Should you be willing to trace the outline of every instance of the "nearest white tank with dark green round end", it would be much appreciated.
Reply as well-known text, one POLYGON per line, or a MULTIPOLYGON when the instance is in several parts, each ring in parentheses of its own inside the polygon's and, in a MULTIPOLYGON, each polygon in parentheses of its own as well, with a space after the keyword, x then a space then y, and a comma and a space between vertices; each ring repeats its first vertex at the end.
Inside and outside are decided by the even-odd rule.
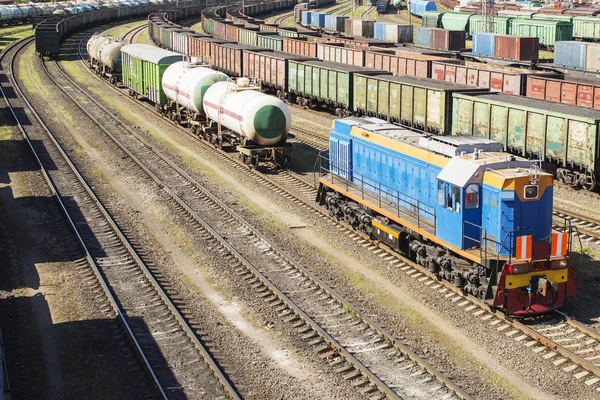
POLYGON ((214 122, 261 146, 284 141, 292 123, 290 110, 247 78, 218 82, 204 95, 204 112, 214 122))

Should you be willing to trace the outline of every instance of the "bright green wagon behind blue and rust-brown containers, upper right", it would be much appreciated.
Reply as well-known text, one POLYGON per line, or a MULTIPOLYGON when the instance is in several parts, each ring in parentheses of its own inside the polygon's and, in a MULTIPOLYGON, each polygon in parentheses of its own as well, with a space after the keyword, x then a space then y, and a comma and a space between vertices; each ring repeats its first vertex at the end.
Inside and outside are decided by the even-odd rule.
POLYGON ((566 21, 547 21, 515 18, 510 24, 513 36, 538 37, 540 46, 554 47, 562 40, 573 40, 573 24, 566 21))

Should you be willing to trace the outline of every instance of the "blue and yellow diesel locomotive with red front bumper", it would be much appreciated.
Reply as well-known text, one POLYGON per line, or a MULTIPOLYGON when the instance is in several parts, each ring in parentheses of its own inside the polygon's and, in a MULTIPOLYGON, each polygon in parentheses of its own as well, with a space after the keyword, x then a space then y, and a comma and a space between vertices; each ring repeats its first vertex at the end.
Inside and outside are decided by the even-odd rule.
POLYGON ((332 215, 493 307, 533 315, 575 295, 552 176, 498 142, 351 117, 334 121, 318 168, 332 215))

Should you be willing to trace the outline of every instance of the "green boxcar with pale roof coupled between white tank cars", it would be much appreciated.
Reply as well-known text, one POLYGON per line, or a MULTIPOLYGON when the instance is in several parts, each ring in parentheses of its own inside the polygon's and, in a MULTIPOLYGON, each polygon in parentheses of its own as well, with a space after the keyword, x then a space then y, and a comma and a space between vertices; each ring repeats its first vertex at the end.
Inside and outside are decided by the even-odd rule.
POLYGON ((128 44, 121 48, 123 84, 136 94, 157 105, 167 97, 162 89, 162 76, 169 65, 182 61, 179 53, 147 44, 128 44))

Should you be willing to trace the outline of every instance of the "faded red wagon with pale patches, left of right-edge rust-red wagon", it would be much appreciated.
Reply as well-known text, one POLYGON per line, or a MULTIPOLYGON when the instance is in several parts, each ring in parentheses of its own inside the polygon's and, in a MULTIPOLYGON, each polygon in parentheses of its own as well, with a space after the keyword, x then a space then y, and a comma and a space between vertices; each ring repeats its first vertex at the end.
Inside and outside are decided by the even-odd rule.
POLYGON ((528 76, 560 77, 561 75, 476 62, 461 65, 433 61, 431 65, 433 79, 514 95, 525 95, 528 76))

